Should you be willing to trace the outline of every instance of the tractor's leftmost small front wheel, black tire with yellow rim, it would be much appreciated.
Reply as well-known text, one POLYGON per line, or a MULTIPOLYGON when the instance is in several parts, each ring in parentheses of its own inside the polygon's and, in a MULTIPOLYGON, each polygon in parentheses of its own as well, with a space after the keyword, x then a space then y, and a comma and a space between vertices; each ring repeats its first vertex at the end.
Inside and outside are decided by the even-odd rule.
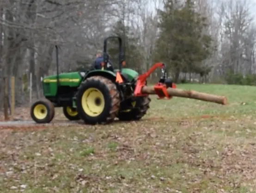
POLYGON ((48 99, 39 100, 30 108, 30 116, 36 123, 49 123, 54 115, 54 105, 48 99))

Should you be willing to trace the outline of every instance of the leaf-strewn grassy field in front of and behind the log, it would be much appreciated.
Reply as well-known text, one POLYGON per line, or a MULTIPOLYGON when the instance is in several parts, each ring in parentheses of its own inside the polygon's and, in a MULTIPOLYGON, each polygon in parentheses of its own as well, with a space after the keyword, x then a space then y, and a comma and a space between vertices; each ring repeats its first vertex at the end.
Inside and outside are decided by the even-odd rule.
POLYGON ((229 105, 152 97, 143 121, 1 130, 0 192, 256 193, 256 87, 178 88, 229 105))

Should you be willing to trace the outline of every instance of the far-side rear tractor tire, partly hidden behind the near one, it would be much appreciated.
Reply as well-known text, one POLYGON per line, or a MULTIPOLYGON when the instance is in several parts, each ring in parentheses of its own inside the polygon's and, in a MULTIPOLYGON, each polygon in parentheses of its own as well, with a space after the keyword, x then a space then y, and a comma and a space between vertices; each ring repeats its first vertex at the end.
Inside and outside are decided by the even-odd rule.
POLYGON ((136 97, 131 109, 120 109, 118 119, 120 121, 138 121, 146 115, 151 99, 149 96, 136 97))

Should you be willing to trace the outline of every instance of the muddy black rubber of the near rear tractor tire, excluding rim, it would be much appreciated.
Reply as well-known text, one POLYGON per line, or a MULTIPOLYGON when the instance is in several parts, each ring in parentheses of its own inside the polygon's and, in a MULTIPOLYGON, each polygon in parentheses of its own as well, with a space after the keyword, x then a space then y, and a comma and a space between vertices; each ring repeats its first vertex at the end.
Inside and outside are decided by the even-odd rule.
POLYGON ((116 84, 110 79, 102 76, 87 78, 78 88, 78 92, 76 94, 76 106, 80 118, 87 124, 106 124, 114 121, 115 117, 118 115, 120 106, 120 96, 119 91, 116 88, 116 84), (100 90, 104 96, 104 109, 102 113, 97 116, 87 115, 82 106, 82 96, 85 91, 90 88, 100 90))

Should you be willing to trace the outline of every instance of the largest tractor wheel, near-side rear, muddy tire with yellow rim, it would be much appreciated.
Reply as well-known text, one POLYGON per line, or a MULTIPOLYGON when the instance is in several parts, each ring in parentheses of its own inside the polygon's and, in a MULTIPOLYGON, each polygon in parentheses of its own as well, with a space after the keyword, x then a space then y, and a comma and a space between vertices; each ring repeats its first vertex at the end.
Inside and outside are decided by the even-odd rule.
POLYGON ((80 118, 86 124, 110 123, 118 115, 119 91, 110 79, 93 76, 79 86, 76 105, 80 118))

